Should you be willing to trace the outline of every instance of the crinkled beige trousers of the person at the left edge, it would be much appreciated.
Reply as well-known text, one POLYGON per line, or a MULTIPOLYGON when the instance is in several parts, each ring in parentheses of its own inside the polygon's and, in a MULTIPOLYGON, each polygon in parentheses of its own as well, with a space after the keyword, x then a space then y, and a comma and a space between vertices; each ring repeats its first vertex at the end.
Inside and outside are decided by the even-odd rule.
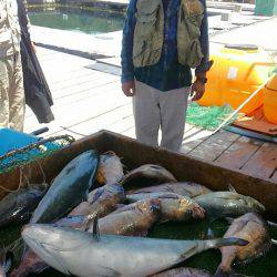
POLYGON ((0 59, 0 126, 23 131, 24 89, 20 54, 0 59))

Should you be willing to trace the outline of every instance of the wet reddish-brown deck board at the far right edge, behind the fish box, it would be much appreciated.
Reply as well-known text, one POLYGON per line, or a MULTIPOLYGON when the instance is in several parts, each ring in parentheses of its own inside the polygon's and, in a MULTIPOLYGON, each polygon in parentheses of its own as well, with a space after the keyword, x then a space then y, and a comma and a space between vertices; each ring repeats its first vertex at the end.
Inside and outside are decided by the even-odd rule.
POLYGON ((270 178, 277 167, 276 144, 264 143, 242 168, 242 172, 260 178, 270 178))

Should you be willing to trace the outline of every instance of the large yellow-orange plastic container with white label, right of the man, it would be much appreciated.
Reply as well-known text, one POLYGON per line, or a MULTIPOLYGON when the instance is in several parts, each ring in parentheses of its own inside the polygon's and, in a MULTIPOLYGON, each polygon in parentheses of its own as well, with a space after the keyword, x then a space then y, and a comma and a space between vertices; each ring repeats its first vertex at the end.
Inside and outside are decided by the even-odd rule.
MULTIPOLYGON (((211 59, 214 65, 207 73, 207 85, 201 105, 232 105, 237 109, 268 78, 273 59, 255 45, 225 45, 211 59)), ((240 112, 250 113, 263 105, 263 91, 240 112)))

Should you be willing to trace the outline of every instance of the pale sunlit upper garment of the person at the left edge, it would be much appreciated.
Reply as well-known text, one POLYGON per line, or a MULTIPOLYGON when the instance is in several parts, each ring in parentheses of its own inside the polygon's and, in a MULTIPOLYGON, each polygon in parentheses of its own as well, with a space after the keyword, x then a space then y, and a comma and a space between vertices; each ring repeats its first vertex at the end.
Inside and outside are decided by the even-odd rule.
POLYGON ((0 58, 20 51, 20 27, 16 0, 0 0, 0 58))

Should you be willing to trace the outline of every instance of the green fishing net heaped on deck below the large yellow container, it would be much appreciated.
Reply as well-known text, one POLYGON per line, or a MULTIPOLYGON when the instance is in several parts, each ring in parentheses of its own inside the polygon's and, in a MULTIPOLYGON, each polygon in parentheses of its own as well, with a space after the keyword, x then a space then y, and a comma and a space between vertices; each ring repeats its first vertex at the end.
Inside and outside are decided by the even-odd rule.
MULTIPOLYGON (((186 112, 186 122, 188 124, 202 127, 205 130, 216 130, 232 113, 234 112, 230 105, 223 106, 201 106, 196 102, 188 104, 186 112)), ((236 116, 228 122, 230 124, 236 120, 236 116)))

